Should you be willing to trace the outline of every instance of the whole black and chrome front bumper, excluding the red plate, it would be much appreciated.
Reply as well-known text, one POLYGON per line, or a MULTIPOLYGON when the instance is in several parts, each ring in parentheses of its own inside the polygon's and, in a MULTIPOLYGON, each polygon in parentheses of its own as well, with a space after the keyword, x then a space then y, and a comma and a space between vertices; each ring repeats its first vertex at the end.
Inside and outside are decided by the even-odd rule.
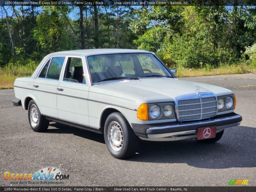
MULTIPOLYGON (((147 138, 168 138, 181 137, 188 135, 197 135, 197 129, 200 127, 217 126, 217 132, 232 126, 237 126, 242 121, 242 117, 236 113, 218 115, 215 118, 193 121, 193 122, 169 122, 157 124, 134 124, 132 128, 134 133, 145 140, 147 138)), ((193 138, 193 137, 192 137, 193 138)), ((156 139, 151 139, 156 140, 156 139)), ((170 140, 170 139, 169 139, 170 140)))

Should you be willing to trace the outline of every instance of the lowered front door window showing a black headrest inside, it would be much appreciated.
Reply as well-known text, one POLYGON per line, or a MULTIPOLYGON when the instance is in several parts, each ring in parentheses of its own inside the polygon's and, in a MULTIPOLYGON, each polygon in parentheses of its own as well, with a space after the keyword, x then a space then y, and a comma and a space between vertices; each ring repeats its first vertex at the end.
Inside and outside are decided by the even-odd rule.
POLYGON ((68 58, 63 81, 86 84, 81 58, 68 58))

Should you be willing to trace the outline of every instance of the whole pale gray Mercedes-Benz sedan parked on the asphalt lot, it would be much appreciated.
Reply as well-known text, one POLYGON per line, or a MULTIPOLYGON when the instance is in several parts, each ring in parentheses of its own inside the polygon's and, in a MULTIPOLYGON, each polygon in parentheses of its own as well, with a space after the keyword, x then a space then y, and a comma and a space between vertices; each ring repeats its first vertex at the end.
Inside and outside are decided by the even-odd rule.
POLYGON ((12 102, 28 110, 34 131, 53 121, 101 133, 119 159, 133 156, 139 139, 213 143, 240 124, 232 91, 178 80, 173 72, 149 51, 61 51, 15 80, 12 102))

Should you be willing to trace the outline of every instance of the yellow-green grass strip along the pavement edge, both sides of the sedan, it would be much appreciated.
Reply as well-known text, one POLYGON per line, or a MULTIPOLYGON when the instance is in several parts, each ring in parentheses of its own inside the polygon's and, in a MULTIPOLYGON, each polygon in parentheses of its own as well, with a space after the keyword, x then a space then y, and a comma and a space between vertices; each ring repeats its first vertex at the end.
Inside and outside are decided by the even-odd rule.
MULTIPOLYGON (((5 67, 0 67, 0 89, 12 89, 13 83, 18 77, 29 77, 37 67, 38 63, 27 61, 25 65, 20 62, 9 63, 5 67)), ((227 75, 255 73, 256 64, 247 65, 239 63, 237 65, 224 65, 218 68, 206 67, 205 69, 178 69, 177 77, 195 77, 207 75, 227 75)))

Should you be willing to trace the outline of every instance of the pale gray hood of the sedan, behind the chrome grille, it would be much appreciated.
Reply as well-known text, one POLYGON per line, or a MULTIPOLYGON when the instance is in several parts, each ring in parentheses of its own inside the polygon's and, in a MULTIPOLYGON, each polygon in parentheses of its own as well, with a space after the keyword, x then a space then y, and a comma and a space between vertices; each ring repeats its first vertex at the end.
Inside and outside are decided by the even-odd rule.
MULTIPOLYGON (((205 83, 183 81, 174 78, 145 78, 97 84, 101 94, 115 94, 131 99, 134 95, 147 99, 149 102, 174 101, 175 97, 197 93, 214 93, 217 96, 232 94, 232 91, 205 83)), ((98 89, 99 90, 99 89, 98 89)))

